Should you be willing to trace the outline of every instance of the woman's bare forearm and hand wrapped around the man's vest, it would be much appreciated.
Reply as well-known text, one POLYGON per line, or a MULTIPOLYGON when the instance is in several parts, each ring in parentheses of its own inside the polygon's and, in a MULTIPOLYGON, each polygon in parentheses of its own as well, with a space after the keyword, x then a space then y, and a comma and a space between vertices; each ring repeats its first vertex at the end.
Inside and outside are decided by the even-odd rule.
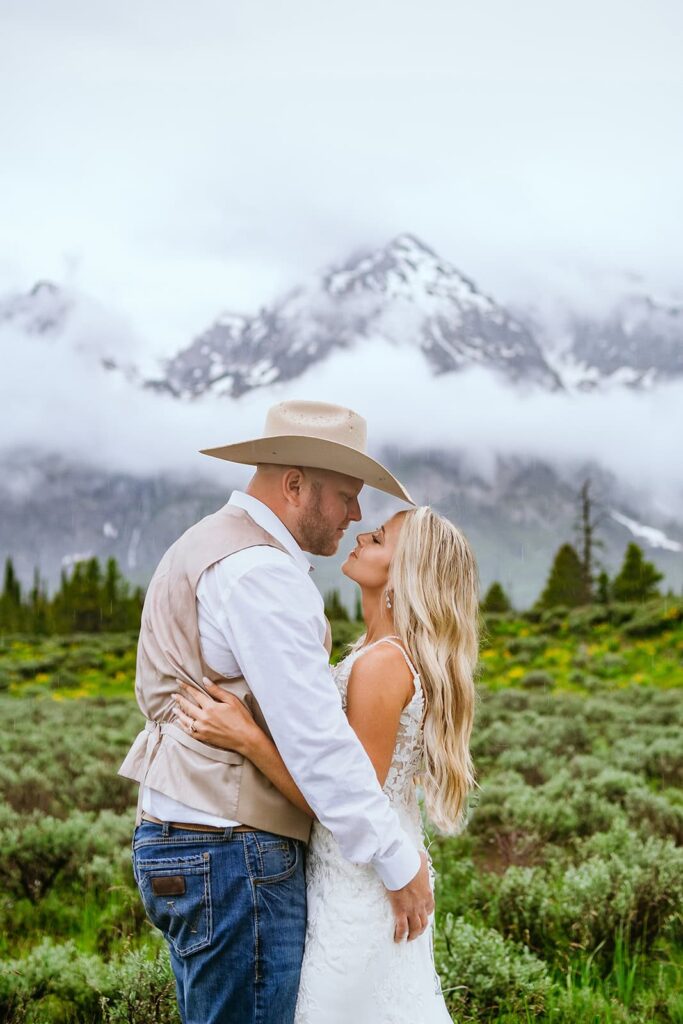
POLYGON ((174 697, 176 722, 182 731, 203 743, 244 755, 290 803, 314 818, 315 814, 292 778, 278 748, 257 725, 242 700, 209 679, 204 679, 204 685, 211 696, 178 680, 181 692, 175 693, 174 697))

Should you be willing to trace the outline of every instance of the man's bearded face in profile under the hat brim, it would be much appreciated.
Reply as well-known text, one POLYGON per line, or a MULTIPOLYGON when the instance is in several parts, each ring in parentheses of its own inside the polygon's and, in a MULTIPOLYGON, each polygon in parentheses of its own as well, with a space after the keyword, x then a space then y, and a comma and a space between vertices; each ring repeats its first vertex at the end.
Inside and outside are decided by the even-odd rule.
POLYGON ((305 504, 297 523, 297 539, 311 555, 334 555, 349 523, 360 519, 362 480, 330 470, 304 472, 305 504))

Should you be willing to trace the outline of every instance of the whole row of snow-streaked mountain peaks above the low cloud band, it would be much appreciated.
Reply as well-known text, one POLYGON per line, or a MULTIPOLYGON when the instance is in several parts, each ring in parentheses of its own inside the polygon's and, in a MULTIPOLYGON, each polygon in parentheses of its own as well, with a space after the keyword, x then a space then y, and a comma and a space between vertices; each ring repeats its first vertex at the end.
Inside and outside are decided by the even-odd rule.
POLYGON ((63 337, 89 361, 181 398, 294 381, 340 350, 362 360, 378 340, 415 351, 434 375, 480 367, 513 387, 643 389, 683 376, 683 304, 631 294, 603 317, 569 312, 558 332, 506 308, 408 233, 324 269, 254 315, 218 316, 153 380, 132 364, 122 317, 51 282, 0 298, 4 328, 37 341, 63 337))

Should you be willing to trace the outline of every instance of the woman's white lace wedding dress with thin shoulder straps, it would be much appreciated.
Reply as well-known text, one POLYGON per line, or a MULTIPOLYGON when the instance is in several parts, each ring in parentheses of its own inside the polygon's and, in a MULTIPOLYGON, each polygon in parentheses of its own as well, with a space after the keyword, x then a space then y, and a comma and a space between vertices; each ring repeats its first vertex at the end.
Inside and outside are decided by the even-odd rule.
MULTIPOLYGON (((415 695, 400 716, 384 792, 405 831, 424 849, 413 781, 422 762, 424 697, 409 663, 415 695)), ((334 670, 346 710, 357 648, 334 670)), ((308 922, 295 1024, 451 1024, 434 968, 432 927, 412 942, 394 942, 386 890, 373 867, 346 860, 332 833, 314 822, 306 858, 308 922)))

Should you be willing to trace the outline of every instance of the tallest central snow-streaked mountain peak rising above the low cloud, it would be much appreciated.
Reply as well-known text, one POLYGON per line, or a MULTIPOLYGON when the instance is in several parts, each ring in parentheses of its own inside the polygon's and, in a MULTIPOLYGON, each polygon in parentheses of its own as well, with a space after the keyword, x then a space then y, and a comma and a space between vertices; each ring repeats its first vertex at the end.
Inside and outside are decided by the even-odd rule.
POLYGON ((151 386, 238 397, 293 380, 337 349, 413 346, 435 374, 486 367, 511 383, 561 387, 530 331, 411 234, 325 270, 255 316, 229 315, 170 359, 151 386))

